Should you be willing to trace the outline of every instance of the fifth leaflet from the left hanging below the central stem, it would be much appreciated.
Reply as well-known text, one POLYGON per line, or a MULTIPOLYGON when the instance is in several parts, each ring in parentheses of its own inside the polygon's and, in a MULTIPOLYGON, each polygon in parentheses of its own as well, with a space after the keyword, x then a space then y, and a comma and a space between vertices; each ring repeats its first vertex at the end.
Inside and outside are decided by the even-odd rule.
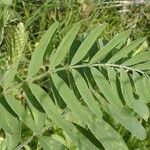
POLYGON ((95 82, 97 83, 97 86, 100 89, 100 92, 105 96, 106 100, 115 108, 121 109, 121 103, 118 103, 118 99, 114 95, 114 91, 112 90, 109 82, 104 77, 104 75, 96 68, 91 68, 91 72, 95 79, 95 82))

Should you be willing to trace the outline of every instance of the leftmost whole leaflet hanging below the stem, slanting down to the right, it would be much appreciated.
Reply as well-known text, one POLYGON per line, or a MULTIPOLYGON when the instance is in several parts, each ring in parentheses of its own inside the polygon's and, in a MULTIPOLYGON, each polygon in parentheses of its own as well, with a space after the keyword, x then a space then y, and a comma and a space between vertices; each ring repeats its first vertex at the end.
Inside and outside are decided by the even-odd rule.
POLYGON ((38 129, 36 128, 36 124, 33 121, 32 117, 26 112, 24 107, 17 102, 15 98, 12 96, 5 94, 5 99, 9 106, 13 109, 13 111, 17 114, 19 119, 27 126, 29 127, 33 132, 38 133, 38 129))

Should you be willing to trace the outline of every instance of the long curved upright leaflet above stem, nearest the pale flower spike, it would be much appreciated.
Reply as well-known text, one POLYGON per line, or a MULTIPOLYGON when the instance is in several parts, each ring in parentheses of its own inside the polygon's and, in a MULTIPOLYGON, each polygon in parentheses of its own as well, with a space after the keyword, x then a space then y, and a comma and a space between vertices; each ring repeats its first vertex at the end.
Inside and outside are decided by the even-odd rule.
POLYGON ((36 47, 36 49, 34 50, 32 54, 32 58, 29 64, 28 77, 34 76, 41 68, 43 64, 43 57, 46 52, 46 49, 48 45, 50 44, 51 39, 56 29, 58 28, 58 26, 59 26, 58 22, 53 23, 50 26, 50 28, 46 31, 46 33, 43 35, 43 37, 41 38, 38 46, 36 47))

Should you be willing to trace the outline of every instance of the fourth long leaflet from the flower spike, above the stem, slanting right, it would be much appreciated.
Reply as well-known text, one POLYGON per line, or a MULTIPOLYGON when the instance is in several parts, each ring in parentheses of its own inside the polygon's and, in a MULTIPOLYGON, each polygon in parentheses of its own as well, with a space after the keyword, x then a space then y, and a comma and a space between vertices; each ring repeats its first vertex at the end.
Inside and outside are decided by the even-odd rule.
POLYGON ((124 31, 119 34, 117 34, 112 40, 110 40, 100 51, 98 51, 94 57, 91 59, 90 64, 93 64, 97 61, 101 61, 105 58, 105 56, 113 50, 115 47, 117 47, 119 44, 125 43, 127 38, 129 37, 131 31, 124 31))

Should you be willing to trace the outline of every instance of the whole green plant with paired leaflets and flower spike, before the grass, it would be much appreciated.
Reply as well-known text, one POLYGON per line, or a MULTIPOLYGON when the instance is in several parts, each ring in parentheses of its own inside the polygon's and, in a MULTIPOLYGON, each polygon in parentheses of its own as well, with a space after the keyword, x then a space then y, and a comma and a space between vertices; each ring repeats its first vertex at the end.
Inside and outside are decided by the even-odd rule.
POLYGON ((37 149, 127 150, 122 126, 131 138, 146 138, 142 123, 149 118, 150 52, 140 50, 146 38, 127 42, 127 30, 106 42, 100 38, 102 24, 82 39, 77 36, 81 25, 76 23, 52 49, 59 23, 52 24, 23 77, 17 71, 24 48, 18 34, 25 33, 17 30, 14 44, 20 48, 1 78, 1 149, 29 149, 35 138, 37 149), (24 100, 17 100, 20 92, 24 100), (24 126, 32 134, 27 139, 24 126))

